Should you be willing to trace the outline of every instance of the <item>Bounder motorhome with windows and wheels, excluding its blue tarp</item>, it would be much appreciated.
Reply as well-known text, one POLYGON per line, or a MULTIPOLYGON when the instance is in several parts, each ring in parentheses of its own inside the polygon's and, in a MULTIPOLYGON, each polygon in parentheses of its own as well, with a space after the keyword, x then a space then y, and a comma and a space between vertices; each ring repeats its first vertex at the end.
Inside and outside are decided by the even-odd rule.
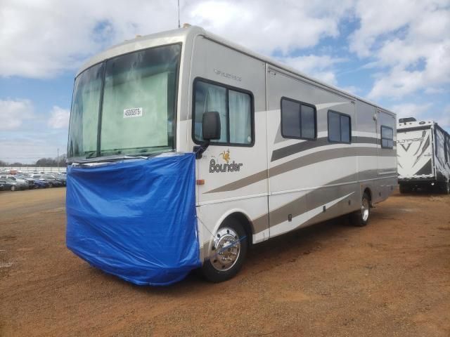
POLYGON ((395 125, 383 107, 185 27, 79 70, 68 161, 198 152, 200 259, 219 282, 252 244, 347 213, 366 225, 397 185, 395 125))

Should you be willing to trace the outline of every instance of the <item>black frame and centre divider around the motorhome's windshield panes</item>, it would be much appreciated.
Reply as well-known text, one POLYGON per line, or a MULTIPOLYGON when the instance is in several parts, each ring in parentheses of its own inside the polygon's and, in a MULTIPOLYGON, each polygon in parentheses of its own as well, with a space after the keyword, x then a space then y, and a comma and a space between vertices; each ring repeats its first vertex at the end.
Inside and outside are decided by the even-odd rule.
MULTIPOLYGON (((105 157, 115 157, 115 156, 108 156, 108 155, 101 155, 101 120, 102 120, 102 116, 103 116, 103 94, 104 94, 104 88, 105 88, 105 72, 106 72, 106 62, 108 62, 108 60, 114 60, 115 58, 120 58, 124 55, 129 55, 132 53, 136 53, 136 52, 141 52, 141 51, 148 51, 151 49, 155 49, 155 48, 162 48, 162 47, 166 47, 166 46, 176 46, 179 45, 180 46, 180 52, 178 55, 178 60, 177 60, 177 65, 176 65, 176 74, 175 74, 175 90, 174 90, 174 116, 173 116, 173 121, 172 121, 172 134, 173 134, 173 145, 172 145, 172 149, 170 150, 161 150, 161 151, 153 151, 153 152, 149 152, 148 154, 141 154, 141 153, 136 153, 136 154, 124 154, 123 157, 153 157, 156 154, 160 154, 160 153, 164 153, 164 152, 176 152, 176 142, 177 142, 177 138, 176 138, 176 128, 178 126, 178 98, 179 98, 179 83, 180 83, 180 70, 181 70, 181 60, 182 60, 182 55, 184 53, 184 48, 183 48, 183 43, 180 42, 174 42, 172 44, 160 44, 158 46, 151 46, 148 48, 141 48, 141 49, 136 49, 134 51, 129 51, 128 53, 121 53, 119 55, 114 55, 110 58, 105 58, 103 60, 101 60, 100 62, 96 62, 93 65, 90 65, 89 67, 87 67, 86 69, 84 69, 82 72, 79 72, 77 74, 77 76, 74 79, 74 85, 73 85, 73 89, 72 89, 72 100, 70 103, 70 117, 69 117, 69 128, 68 128, 68 148, 67 148, 67 154, 69 154, 69 142, 70 142, 70 128, 72 127, 72 107, 74 104, 74 95, 75 95, 75 84, 77 79, 84 74, 84 72, 86 72, 87 70, 90 70, 92 67, 96 67, 98 65, 103 64, 103 70, 102 70, 102 77, 101 77, 101 92, 100 92, 100 103, 98 104, 98 124, 97 124, 97 143, 96 143, 96 154, 94 157, 86 157, 86 156, 73 156, 73 157, 68 157, 66 159, 66 162, 68 164, 72 164, 74 162, 82 162, 82 161, 96 161, 95 159, 101 159, 101 161, 105 161, 103 158, 105 157)), ((120 155, 120 157, 122 157, 122 155, 120 155)), ((112 158, 110 160, 113 160, 112 158)), ((106 161, 108 161, 108 159, 106 159, 106 161)))

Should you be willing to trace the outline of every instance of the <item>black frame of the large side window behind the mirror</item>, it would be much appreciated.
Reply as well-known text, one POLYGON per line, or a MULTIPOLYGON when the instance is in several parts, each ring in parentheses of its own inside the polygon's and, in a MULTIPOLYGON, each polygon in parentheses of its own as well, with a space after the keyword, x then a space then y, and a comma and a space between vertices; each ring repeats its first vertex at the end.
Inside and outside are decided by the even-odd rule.
POLYGON ((230 139, 230 107, 229 107, 229 91, 236 91, 238 93, 246 93, 250 95, 250 126, 252 128, 251 135, 252 135, 252 142, 249 144, 242 144, 242 143, 230 143, 230 142, 216 142, 211 140, 210 146, 233 146, 233 147, 253 147, 255 145, 255 96, 253 95, 252 91, 238 88, 237 86, 230 86, 228 84, 224 84, 218 81, 212 81, 211 79, 205 79, 204 77, 195 77, 193 80, 192 85, 192 107, 191 107, 191 113, 192 113, 192 128, 191 128, 191 138, 193 142, 197 145, 202 145, 203 140, 198 140, 195 138, 195 85, 198 81, 204 82, 206 84, 212 84, 214 86, 221 86, 222 88, 226 89, 226 118, 227 118, 227 124, 228 128, 226 130, 227 138, 230 139))

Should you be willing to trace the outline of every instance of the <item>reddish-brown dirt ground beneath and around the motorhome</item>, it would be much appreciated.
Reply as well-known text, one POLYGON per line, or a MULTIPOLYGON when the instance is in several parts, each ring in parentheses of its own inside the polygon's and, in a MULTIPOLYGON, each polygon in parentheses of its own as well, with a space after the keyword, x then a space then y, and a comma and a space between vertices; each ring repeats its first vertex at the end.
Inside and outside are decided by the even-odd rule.
POLYGON ((65 189, 0 193, 0 336, 450 336, 450 196, 265 242, 229 282, 165 288, 65 247, 65 189))

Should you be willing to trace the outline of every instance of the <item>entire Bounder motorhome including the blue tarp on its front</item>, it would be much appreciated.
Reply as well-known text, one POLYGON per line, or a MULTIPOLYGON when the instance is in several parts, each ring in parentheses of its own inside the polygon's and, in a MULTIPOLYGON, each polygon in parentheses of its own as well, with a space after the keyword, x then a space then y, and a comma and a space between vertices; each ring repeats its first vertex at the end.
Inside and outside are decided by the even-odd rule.
POLYGON ((68 247, 136 284, 197 267, 221 282, 253 244, 345 214, 364 226, 397 185, 395 118, 201 27, 125 41, 75 78, 68 247))

